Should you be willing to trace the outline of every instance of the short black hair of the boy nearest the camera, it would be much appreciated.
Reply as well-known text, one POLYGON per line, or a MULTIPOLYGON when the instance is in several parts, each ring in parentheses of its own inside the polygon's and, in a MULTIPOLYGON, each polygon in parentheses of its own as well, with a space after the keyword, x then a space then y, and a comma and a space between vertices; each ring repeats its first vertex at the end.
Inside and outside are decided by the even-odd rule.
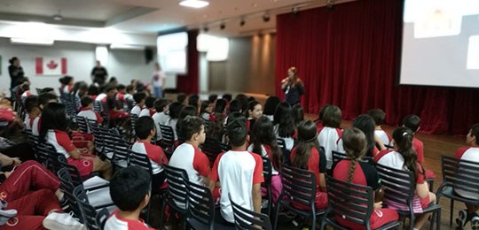
POLYGON ((151 175, 140 166, 130 166, 114 173, 110 196, 122 211, 135 211, 151 190, 151 175))

